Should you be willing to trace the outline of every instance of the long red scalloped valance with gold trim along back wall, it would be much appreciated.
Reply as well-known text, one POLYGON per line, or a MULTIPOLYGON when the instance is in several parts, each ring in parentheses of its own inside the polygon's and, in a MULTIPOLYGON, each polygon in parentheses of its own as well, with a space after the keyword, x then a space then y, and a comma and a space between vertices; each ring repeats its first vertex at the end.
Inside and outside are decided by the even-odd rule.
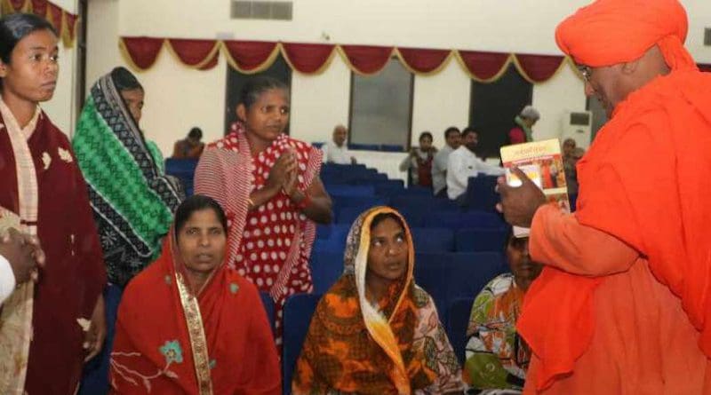
MULTIPOLYGON (((2 1, 2 0, 0 0, 2 1)), ((6 0, 17 3, 19 0, 6 0)), ((30 1, 30 0, 28 0, 30 1)), ((33 2, 40 0, 31 0, 33 2)), ((52 14, 52 5, 49 6, 52 14)), ((303 74, 320 74, 339 53, 348 67, 360 75, 373 75, 396 56, 415 75, 432 75, 447 65, 451 58, 459 61, 467 75, 475 81, 491 83, 498 80, 512 63, 530 83, 544 83, 570 59, 558 55, 533 55, 486 51, 434 50, 397 48, 377 45, 276 43, 263 41, 220 41, 156 37, 121 37, 120 47, 132 67, 146 70, 153 66, 163 49, 183 65, 200 70, 215 67, 220 52, 231 67, 242 73, 259 73, 270 67, 281 53, 292 69, 303 74)), ((699 65, 711 71, 711 65, 699 65)))

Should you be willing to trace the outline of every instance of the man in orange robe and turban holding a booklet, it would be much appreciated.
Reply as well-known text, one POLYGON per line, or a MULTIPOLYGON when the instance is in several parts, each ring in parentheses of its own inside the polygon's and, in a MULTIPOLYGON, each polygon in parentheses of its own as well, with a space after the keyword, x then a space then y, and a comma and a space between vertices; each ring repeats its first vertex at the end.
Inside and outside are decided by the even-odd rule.
POLYGON ((574 215, 499 180, 547 265, 518 324, 524 393, 711 393, 711 74, 687 28, 677 0, 598 0, 556 30, 611 120, 578 164, 574 215))

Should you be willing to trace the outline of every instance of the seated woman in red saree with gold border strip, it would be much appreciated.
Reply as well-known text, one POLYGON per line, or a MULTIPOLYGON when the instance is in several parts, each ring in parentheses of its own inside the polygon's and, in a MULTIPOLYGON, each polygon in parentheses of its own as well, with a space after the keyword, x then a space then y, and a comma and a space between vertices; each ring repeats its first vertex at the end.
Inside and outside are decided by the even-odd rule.
POLYGON ((226 245, 216 201, 180 204, 163 254, 124 291, 111 393, 280 393, 267 313, 252 283, 225 265, 226 245))

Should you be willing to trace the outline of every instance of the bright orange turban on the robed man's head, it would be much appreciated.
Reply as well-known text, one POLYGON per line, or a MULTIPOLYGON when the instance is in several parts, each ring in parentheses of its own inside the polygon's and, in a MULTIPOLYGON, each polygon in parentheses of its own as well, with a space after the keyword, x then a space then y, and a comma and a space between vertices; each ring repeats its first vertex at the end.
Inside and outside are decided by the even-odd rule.
POLYGON ((555 41, 576 63, 589 67, 639 59, 659 45, 667 65, 677 68, 693 64, 683 49, 688 28, 677 0, 597 0, 563 20, 555 41))

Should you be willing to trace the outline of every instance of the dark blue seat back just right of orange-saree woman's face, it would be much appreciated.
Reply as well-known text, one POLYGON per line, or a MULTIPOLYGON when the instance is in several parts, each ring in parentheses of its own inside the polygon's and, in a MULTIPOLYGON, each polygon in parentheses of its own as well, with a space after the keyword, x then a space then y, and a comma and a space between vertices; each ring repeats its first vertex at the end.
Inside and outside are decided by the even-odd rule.
POLYGON ((447 322, 451 301, 476 296, 505 269, 503 257, 496 252, 419 254, 418 258, 415 281, 435 300, 442 322, 447 322))

